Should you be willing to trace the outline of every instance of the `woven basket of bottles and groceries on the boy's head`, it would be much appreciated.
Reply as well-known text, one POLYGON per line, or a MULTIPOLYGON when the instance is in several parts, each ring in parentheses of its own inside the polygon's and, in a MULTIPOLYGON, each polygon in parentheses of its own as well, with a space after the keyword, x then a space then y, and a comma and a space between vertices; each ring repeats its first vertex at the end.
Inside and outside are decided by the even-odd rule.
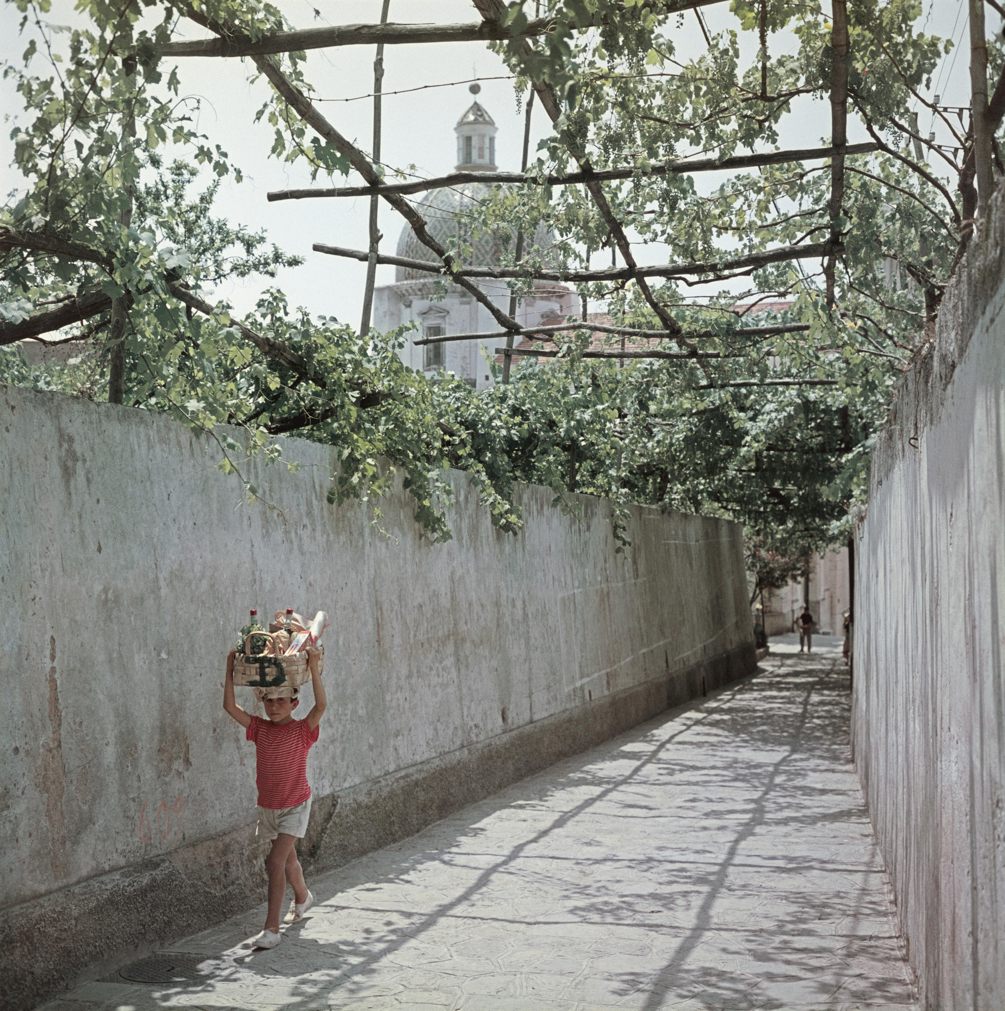
POLYGON ((247 625, 240 630, 237 655, 234 657, 233 682, 254 688, 300 687, 310 680, 308 650, 317 650, 318 673, 324 666, 324 647, 318 645, 327 627, 326 616, 319 611, 305 622, 292 608, 277 611, 266 628, 253 611, 247 625))

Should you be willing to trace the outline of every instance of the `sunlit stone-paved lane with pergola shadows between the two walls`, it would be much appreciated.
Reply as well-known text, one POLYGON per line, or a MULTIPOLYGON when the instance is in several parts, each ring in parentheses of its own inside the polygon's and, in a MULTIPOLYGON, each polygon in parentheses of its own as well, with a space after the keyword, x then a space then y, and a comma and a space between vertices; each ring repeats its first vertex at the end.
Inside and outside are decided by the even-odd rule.
POLYGON ((243 943, 262 907, 175 945, 178 982, 117 974, 46 1011, 913 1007, 839 640, 786 639, 758 676, 315 879, 278 948, 243 943))

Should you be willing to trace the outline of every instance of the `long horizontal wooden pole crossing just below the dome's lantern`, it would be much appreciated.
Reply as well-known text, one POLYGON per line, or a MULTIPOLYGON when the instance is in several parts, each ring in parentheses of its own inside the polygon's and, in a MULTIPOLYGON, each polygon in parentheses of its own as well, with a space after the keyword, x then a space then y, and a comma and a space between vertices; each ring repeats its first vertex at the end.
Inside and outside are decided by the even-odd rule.
MULTIPOLYGON (((849 144, 840 151, 844 155, 871 155, 879 150, 879 145, 870 141, 868 144, 849 144)), ((645 178, 647 176, 690 175, 692 172, 724 172, 732 169, 753 169, 764 165, 787 165, 790 162, 808 162, 820 158, 833 158, 839 154, 837 148, 801 148, 796 151, 769 151, 758 155, 737 155, 735 158, 724 158, 717 161, 714 158, 695 158, 691 161, 657 162, 647 169, 632 165, 621 169, 600 169, 592 175, 584 172, 571 172, 566 176, 545 176, 538 179, 535 176, 525 176, 519 172, 451 172, 446 176, 434 179, 419 179, 410 183, 385 183, 381 186, 339 186, 328 189, 291 189, 274 190, 267 194, 270 201, 304 200, 311 197, 356 197, 373 196, 375 193, 397 193, 408 196, 412 193, 422 193, 430 189, 441 189, 444 186, 462 186, 465 183, 505 183, 515 186, 571 186, 585 183, 588 179, 606 182, 614 179, 645 178)))

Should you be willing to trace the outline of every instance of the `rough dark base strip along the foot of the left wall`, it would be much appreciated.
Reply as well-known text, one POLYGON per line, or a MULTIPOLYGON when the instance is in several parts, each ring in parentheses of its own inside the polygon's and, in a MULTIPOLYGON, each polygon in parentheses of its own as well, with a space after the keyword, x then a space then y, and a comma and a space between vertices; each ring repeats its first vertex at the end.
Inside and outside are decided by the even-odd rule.
MULTIPOLYGON (((314 872, 341 866, 756 669, 753 646, 745 644, 491 740, 316 797, 301 856, 314 872)), ((0 1009, 23 1011, 261 903, 267 848, 255 841, 249 824, 7 910, 0 920, 8 967, 0 1009)))

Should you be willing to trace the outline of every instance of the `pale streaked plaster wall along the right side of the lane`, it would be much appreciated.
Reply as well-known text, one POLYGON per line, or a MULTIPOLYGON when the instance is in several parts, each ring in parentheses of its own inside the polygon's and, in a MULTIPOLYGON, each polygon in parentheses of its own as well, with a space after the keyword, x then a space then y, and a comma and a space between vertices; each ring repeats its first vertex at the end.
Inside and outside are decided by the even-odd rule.
POLYGON ((852 743, 926 1009, 1005 1005, 1005 207, 876 447, 852 743))

